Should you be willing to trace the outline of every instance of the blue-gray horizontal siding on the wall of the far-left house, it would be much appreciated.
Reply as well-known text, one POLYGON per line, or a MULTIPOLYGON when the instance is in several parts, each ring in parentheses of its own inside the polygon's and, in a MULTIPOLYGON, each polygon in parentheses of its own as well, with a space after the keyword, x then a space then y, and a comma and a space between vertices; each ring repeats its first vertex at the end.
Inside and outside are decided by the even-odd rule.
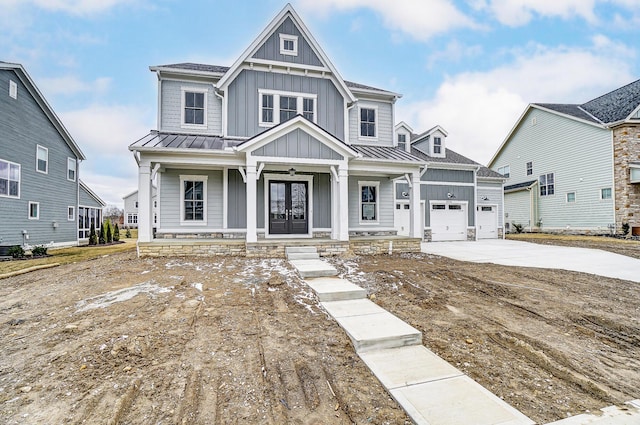
POLYGON ((20 198, 0 197, 0 244, 22 245, 23 230, 30 245, 77 243, 79 167, 76 180, 67 180, 67 158, 77 160, 16 73, 0 71, 0 159, 21 165, 20 198), (9 81, 17 84, 17 99, 9 96, 9 81), (36 171, 37 145, 49 151, 47 174, 36 171), (30 201, 40 203, 38 220, 29 219, 30 201), (69 207, 74 220, 68 220, 69 207))

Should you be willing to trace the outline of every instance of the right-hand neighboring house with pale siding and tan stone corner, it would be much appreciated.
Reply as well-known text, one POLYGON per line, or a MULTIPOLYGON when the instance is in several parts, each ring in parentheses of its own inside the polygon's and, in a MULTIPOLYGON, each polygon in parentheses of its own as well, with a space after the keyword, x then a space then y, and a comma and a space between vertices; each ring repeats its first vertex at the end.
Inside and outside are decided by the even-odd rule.
POLYGON ((530 104, 489 167, 505 221, 528 231, 640 235, 640 80, 576 104, 530 104))

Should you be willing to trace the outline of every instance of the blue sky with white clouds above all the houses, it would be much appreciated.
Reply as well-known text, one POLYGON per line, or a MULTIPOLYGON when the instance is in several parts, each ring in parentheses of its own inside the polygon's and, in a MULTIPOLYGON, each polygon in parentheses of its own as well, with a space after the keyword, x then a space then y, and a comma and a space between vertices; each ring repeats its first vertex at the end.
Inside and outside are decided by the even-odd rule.
MULTIPOLYGON (((403 95, 487 164, 529 103, 584 103, 640 78, 640 0, 293 0, 344 79, 403 95)), ((275 0, 0 0, 0 60, 22 64, 107 204, 137 189, 128 146, 157 128, 149 66, 231 66, 275 0)))

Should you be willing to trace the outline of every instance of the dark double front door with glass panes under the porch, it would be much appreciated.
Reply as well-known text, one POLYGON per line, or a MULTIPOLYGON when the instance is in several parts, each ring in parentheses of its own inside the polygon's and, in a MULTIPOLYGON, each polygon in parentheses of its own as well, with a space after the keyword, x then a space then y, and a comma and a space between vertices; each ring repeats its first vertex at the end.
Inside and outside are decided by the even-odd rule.
POLYGON ((269 182, 269 234, 309 233, 307 183, 269 182))

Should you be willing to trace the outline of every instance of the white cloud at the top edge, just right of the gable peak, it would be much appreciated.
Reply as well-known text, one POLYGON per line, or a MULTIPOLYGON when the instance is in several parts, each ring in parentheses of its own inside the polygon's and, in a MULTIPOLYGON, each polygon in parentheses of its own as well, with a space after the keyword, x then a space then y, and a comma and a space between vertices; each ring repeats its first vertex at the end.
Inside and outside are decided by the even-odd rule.
POLYGON ((437 34, 478 25, 449 0, 299 0, 309 14, 326 15, 333 9, 369 8, 377 12, 386 27, 425 41, 437 34))

